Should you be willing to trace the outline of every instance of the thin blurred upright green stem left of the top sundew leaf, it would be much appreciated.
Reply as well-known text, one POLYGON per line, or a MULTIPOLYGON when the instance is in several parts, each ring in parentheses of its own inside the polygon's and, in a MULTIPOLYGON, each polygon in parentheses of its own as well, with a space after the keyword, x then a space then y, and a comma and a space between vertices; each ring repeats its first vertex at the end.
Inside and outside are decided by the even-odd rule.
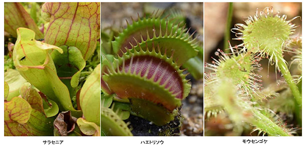
POLYGON ((226 53, 230 52, 230 50, 228 49, 229 48, 228 41, 230 40, 230 27, 231 27, 232 18, 233 18, 233 3, 229 2, 227 24, 224 32, 224 52, 226 53))

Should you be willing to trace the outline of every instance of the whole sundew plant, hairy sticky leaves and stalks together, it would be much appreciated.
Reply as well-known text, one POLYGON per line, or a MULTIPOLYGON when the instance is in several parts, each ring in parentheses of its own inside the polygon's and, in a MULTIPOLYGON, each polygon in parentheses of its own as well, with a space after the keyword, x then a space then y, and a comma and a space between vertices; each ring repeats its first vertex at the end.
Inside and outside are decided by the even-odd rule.
MULTIPOLYGON (((245 20, 246 24, 236 24, 235 28, 231 29, 236 33, 235 39, 242 40, 243 43, 235 47, 229 44, 229 54, 218 49, 214 53, 215 57, 212 57, 213 61, 205 64, 205 68, 210 70, 205 72, 204 106, 207 119, 225 112, 232 122, 232 133, 237 135, 242 135, 243 126, 247 124, 255 127, 251 134, 255 131, 258 131, 258 135, 268 136, 297 134, 297 130, 301 128, 295 127, 292 123, 287 124, 288 120, 283 120, 284 116, 279 115, 285 112, 277 112, 274 107, 270 108, 267 105, 269 99, 289 101, 285 99, 282 86, 279 85, 283 80, 276 78, 277 85, 272 84, 274 87, 270 85, 264 88, 262 75, 257 74, 263 70, 260 64, 262 59, 269 60, 268 66, 276 66, 275 73, 282 73, 288 83, 283 86, 292 92, 292 95, 286 98, 291 99, 294 96, 297 101, 296 108, 290 112, 296 114, 297 123, 300 124, 302 95, 296 81, 301 79, 292 78, 283 54, 285 51, 293 52, 295 55, 290 65, 297 65, 299 73, 302 73, 300 40, 299 37, 297 40, 291 36, 297 27, 291 21, 296 18, 298 17, 286 20, 286 15, 280 16, 279 12, 273 14, 273 8, 266 7, 263 11, 257 10, 255 16, 249 16, 245 20)), ((278 107, 281 107, 281 104, 278 107)))

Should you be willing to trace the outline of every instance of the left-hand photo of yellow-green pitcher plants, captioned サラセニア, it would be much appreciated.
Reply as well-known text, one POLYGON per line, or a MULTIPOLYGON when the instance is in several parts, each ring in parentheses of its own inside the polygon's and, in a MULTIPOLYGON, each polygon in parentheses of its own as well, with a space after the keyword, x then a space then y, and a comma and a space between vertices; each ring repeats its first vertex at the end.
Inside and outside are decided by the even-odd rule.
POLYGON ((4 2, 4 136, 100 136, 100 70, 99 2, 4 2))

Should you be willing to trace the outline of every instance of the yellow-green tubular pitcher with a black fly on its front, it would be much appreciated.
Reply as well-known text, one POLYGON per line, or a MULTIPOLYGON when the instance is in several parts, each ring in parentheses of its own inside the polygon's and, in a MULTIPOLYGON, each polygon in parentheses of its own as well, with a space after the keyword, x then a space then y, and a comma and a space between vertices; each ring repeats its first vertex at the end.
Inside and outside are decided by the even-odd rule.
POLYGON ((56 102, 61 111, 70 110, 80 116, 72 107, 69 91, 59 79, 49 51, 62 49, 34 40, 35 33, 27 28, 17 29, 17 40, 13 50, 13 61, 19 73, 49 99, 56 102))

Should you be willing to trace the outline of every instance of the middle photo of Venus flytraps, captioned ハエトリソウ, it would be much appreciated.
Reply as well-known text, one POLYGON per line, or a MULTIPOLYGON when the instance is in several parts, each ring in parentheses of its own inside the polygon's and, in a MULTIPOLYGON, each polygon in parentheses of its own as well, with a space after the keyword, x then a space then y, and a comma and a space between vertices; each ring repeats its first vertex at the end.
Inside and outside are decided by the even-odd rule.
POLYGON ((101 41, 102 136, 203 136, 202 2, 103 2, 101 41))

